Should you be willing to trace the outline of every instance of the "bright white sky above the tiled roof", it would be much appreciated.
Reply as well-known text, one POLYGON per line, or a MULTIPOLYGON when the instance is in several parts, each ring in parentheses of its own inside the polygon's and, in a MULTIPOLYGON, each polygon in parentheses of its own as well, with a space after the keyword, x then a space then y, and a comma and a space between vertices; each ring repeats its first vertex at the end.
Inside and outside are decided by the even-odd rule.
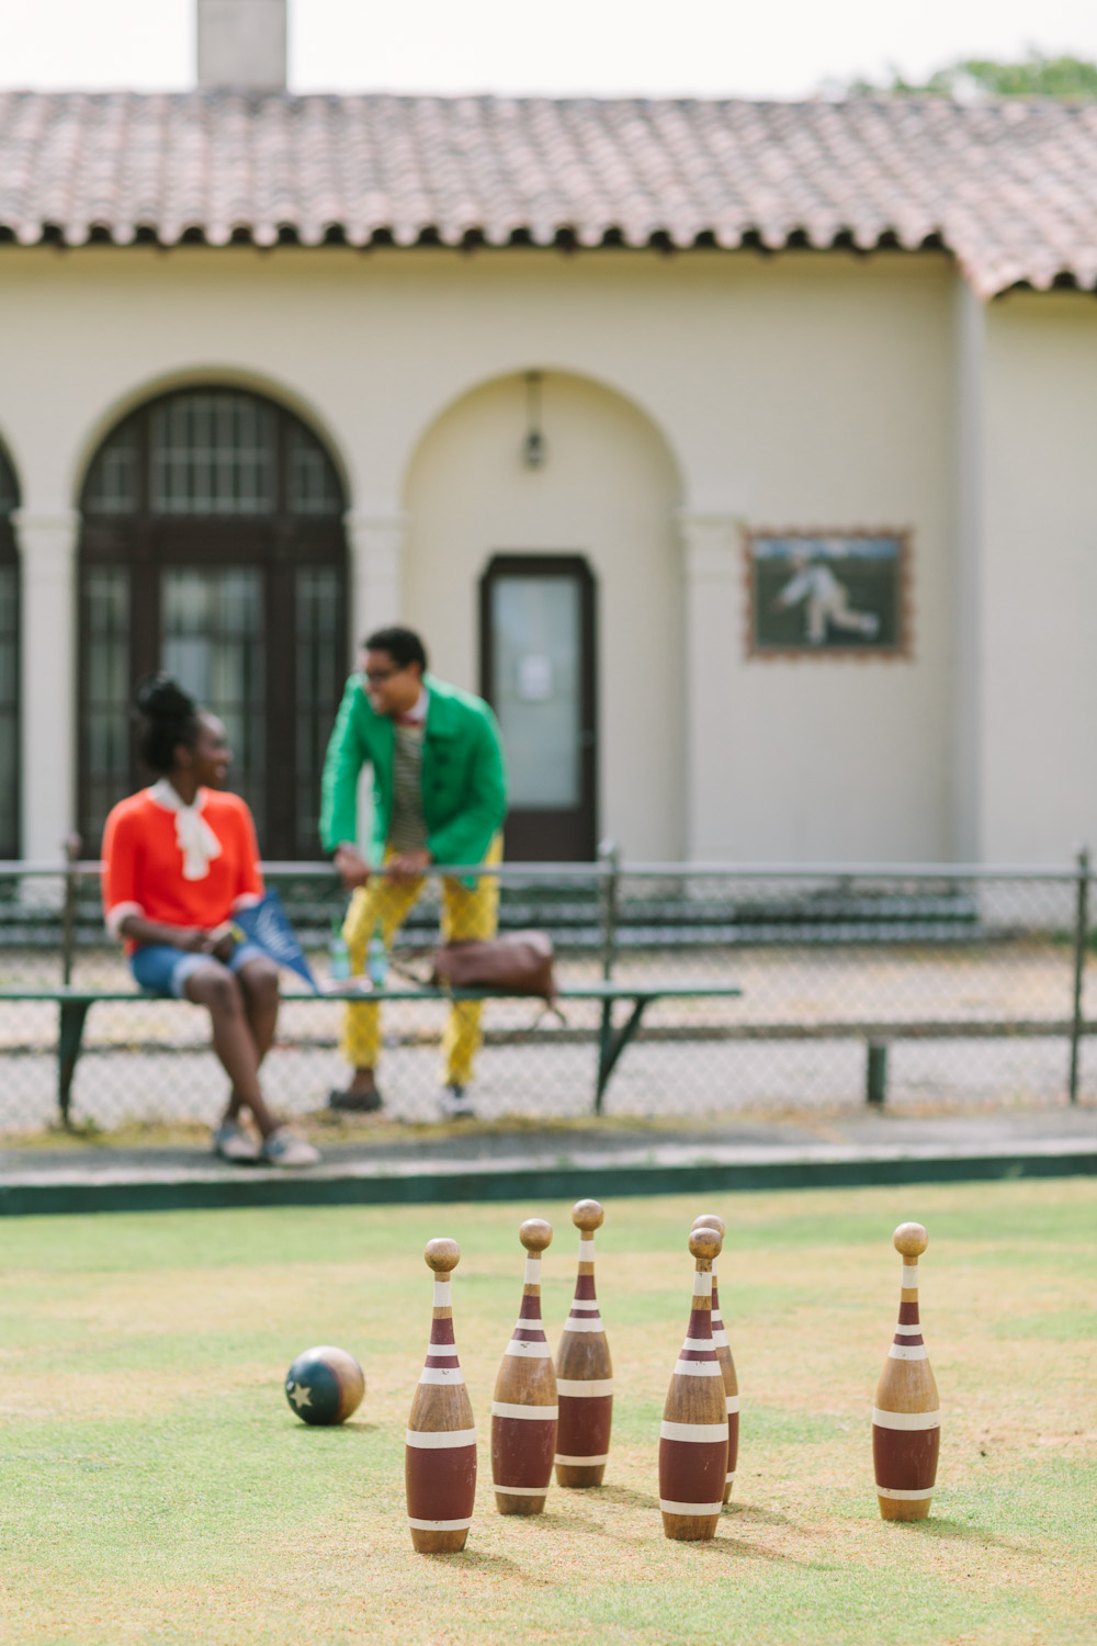
MULTIPOLYGON (((0 86, 194 84, 196 0, 0 0, 0 86)), ((798 97, 1030 46, 1097 59, 1097 0, 289 0, 294 91, 798 97)))

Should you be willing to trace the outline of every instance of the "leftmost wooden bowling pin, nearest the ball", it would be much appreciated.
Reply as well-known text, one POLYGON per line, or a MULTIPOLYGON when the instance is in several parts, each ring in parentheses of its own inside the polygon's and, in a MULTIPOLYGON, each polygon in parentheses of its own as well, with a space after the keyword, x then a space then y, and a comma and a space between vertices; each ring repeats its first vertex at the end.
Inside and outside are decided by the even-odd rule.
POLYGON ((449 1279, 461 1248, 456 1239, 431 1239, 423 1258, 434 1271, 434 1315, 405 1435, 408 1523, 419 1554, 456 1554, 469 1537, 475 1501, 475 1422, 457 1361, 449 1279))

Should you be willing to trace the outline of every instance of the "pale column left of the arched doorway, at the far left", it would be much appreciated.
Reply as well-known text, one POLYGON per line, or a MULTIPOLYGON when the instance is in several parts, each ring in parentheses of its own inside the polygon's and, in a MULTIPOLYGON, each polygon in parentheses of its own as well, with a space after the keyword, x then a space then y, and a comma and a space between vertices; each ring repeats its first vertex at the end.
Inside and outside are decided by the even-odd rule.
POLYGON ((21 583, 23 856, 61 858, 76 826, 76 510, 13 515, 21 583))

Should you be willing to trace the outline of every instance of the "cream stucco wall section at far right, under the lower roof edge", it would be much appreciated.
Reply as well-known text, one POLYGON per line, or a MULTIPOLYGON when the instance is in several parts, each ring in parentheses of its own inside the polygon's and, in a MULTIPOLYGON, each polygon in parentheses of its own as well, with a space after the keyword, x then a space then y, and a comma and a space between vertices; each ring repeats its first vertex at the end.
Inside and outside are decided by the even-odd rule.
POLYGON ((1097 305, 987 314, 982 831, 990 861, 1097 844, 1097 305))

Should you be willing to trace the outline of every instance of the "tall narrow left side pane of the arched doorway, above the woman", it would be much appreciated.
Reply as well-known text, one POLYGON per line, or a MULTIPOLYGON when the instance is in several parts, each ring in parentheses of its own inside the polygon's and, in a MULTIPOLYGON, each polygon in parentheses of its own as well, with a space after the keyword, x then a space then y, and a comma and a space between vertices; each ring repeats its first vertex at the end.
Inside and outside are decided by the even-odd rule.
POLYGON ((94 570, 84 583, 84 762, 87 816, 99 839, 130 787, 130 576, 94 570))

